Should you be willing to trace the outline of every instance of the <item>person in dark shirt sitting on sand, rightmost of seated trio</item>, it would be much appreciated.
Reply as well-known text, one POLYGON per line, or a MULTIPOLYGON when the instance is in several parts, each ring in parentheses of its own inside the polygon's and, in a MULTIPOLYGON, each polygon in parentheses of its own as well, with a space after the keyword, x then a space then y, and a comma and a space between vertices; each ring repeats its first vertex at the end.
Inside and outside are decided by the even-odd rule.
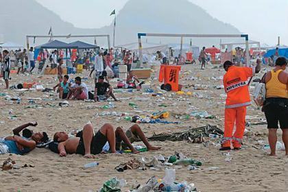
POLYGON ((115 101, 118 101, 112 91, 112 86, 110 86, 110 84, 107 82, 104 82, 104 77, 100 76, 98 82, 95 84, 94 100, 104 101, 111 96, 115 101))

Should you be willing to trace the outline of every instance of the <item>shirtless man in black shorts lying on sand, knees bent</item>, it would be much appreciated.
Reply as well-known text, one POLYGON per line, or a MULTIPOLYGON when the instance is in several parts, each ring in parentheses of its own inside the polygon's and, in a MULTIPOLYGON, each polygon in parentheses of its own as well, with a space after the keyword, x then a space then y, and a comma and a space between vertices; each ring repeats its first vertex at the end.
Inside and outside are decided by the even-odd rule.
POLYGON ((60 156, 82 154, 85 158, 93 158, 92 154, 100 154, 107 141, 110 152, 116 153, 114 128, 108 123, 104 124, 96 134, 94 134, 91 123, 87 123, 82 132, 77 135, 79 137, 69 138, 66 132, 56 132, 54 134, 53 140, 59 143, 60 156))

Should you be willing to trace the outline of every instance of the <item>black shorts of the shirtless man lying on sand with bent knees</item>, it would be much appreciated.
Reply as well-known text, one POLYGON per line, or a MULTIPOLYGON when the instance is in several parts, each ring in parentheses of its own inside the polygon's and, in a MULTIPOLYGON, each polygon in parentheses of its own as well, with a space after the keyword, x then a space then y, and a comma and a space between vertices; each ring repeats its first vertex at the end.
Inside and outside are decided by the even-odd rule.
MULTIPOLYGON (((102 152, 102 148, 107 142, 107 137, 102 134, 100 131, 93 136, 92 141, 91 141, 91 154, 100 154, 102 152)), ((76 154, 85 154, 85 147, 84 147, 84 141, 83 141, 83 136, 80 136, 80 141, 76 149, 76 154)))

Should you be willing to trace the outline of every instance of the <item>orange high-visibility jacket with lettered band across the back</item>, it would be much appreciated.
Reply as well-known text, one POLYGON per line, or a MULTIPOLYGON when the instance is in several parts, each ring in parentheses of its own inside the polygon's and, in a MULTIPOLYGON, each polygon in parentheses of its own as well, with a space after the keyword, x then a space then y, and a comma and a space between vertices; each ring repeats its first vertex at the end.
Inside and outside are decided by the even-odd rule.
POLYGON ((255 74, 255 68, 229 67, 224 75, 223 83, 227 93, 226 108, 237 108, 251 104, 248 78, 255 74))

